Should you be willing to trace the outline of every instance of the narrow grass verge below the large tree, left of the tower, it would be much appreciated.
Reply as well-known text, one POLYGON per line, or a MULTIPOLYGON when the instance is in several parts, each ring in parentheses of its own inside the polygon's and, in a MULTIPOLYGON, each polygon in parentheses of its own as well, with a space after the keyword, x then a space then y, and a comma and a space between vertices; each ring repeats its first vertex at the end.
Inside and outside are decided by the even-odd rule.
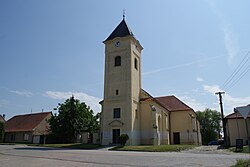
POLYGON ((28 146, 40 146, 40 147, 55 147, 55 148, 72 148, 72 149, 98 149, 102 148, 99 144, 82 144, 82 143, 71 143, 71 144, 27 144, 28 146))

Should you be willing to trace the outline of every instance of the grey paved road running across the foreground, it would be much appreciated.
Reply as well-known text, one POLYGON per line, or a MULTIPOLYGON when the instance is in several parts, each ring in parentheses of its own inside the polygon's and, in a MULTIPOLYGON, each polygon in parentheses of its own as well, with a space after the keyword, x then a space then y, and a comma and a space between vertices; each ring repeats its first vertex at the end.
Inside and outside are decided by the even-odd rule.
POLYGON ((0 145, 0 167, 209 166, 224 167, 249 154, 218 152, 207 147, 181 153, 72 150, 0 145))

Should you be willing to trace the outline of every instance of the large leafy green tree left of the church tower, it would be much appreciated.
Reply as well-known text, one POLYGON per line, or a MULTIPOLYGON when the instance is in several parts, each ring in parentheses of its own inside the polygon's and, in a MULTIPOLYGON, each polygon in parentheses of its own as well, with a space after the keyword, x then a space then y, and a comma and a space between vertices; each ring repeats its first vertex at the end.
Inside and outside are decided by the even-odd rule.
POLYGON ((99 128, 99 114, 94 116, 93 110, 85 103, 80 103, 74 96, 63 104, 58 104, 58 115, 49 119, 50 140, 57 143, 76 142, 82 132, 94 132, 99 128))

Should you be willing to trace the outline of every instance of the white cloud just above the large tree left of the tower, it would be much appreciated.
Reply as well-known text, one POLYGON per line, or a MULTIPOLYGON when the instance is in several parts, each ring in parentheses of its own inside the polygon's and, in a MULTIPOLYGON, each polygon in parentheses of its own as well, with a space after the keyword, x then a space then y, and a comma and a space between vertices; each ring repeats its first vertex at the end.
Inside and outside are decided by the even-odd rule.
POLYGON ((101 99, 94 97, 94 96, 90 96, 86 93, 83 92, 58 92, 58 91, 46 91, 45 95, 53 98, 53 99, 60 99, 60 100, 64 100, 64 99, 68 99, 70 98, 72 95, 74 95, 74 97, 78 100, 80 100, 81 102, 85 102, 88 106, 90 106, 90 108, 95 112, 100 112, 101 111, 101 106, 99 105, 99 101, 101 99))

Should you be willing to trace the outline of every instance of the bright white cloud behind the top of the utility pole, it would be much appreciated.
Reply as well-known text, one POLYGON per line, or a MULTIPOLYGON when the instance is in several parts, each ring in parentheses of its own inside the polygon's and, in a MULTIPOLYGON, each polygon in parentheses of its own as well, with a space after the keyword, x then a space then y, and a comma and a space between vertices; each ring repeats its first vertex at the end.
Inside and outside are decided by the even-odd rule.
MULTIPOLYGON (((208 92, 208 93, 212 94, 213 96, 217 96, 217 95, 215 95, 216 92, 222 91, 222 89, 220 89, 220 87, 218 85, 212 85, 212 86, 203 85, 203 89, 205 92, 208 92)), ((250 104, 250 96, 248 96, 248 97, 233 97, 230 94, 225 93, 225 94, 223 94, 222 100, 223 100, 225 115, 232 113, 233 109, 235 107, 246 106, 246 105, 250 104)), ((219 103, 218 103, 218 106, 219 106, 219 103)))

